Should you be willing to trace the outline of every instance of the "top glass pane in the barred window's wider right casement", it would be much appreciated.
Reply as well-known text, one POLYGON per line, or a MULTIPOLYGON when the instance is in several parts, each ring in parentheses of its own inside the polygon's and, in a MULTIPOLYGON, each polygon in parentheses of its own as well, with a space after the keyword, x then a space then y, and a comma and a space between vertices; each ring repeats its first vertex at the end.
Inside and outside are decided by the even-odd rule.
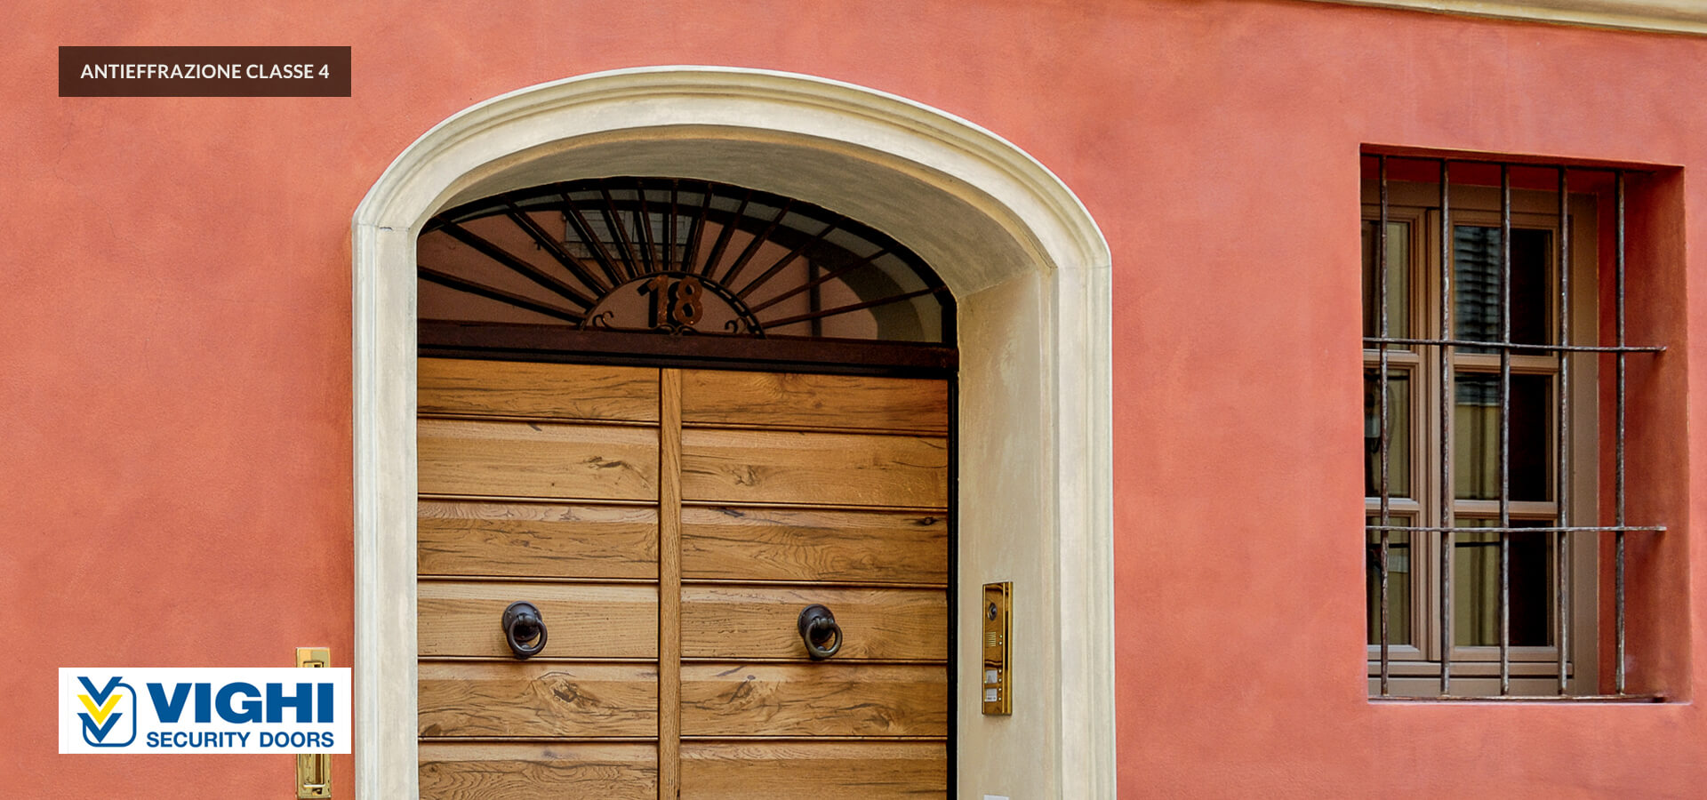
MULTIPOLYGON (((1511 341, 1547 345, 1548 300, 1547 263, 1552 232, 1512 229, 1511 232, 1511 341)), ((1499 341, 1500 235, 1494 225, 1453 227, 1453 336, 1470 341, 1499 341)), ((1465 353, 1490 353, 1489 348, 1465 348, 1465 353)))

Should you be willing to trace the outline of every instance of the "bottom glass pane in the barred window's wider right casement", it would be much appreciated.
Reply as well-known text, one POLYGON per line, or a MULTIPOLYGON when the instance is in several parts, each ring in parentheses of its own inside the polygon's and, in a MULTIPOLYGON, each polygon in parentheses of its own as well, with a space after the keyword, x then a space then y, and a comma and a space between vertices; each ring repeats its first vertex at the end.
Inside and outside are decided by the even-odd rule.
MULTIPOLYGON (((1459 519, 1465 527, 1494 527, 1492 519, 1459 519)), ((1512 520, 1512 527, 1547 527, 1550 520, 1512 520)), ((1511 534, 1511 643, 1553 641, 1553 536, 1511 534)), ((1391 549, 1391 548, 1389 548, 1391 549)), ((1453 641, 1499 646, 1499 534, 1453 537, 1453 641)))

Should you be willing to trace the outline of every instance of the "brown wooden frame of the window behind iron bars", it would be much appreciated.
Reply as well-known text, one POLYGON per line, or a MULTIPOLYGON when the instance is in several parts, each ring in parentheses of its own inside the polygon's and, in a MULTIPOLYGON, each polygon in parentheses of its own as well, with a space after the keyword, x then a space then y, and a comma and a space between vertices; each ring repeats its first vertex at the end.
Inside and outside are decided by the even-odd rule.
MULTIPOLYGON (((1362 222, 1379 225, 1378 184, 1362 184, 1362 222)), ((1500 223, 1500 191, 1497 186, 1453 184, 1451 186, 1451 223, 1490 225, 1500 223)), ((1598 217, 1596 200, 1591 194, 1572 193, 1569 198, 1570 223, 1570 329, 1572 341, 1598 341, 1599 324, 1599 252, 1598 252, 1598 217)), ((1405 246, 1408 247, 1408 321, 1410 331, 1389 329, 1395 338, 1446 338, 1439 331, 1441 307, 1441 210, 1437 183, 1388 183, 1388 223, 1408 227, 1405 246)), ((1511 193, 1511 227, 1512 230, 1531 229, 1550 234, 1547 252, 1548 341, 1557 339, 1558 331, 1558 194, 1552 191, 1511 193)), ((1389 237, 1388 247, 1393 247, 1389 237)), ((1454 316, 1456 317, 1456 316, 1454 316)), ((1388 370, 1391 375, 1408 375, 1410 406, 1410 496, 1395 495, 1389 500, 1389 517, 1393 524, 1410 525, 1448 525, 1441 519, 1441 380, 1439 360, 1429 348, 1388 348, 1388 370), (1412 522, 1401 522, 1412 520, 1412 522)), ((1499 375, 1497 353, 1454 353, 1451 355, 1456 374, 1490 374, 1499 375)), ((1570 353, 1570 515, 1574 520, 1598 519, 1598 466, 1599 466, 1599 432, 1598 432, 1598 360, 1594 353, 1570 353)), ((1379 350, 1364 350, 1364 370, 1379 367, 1379 350)), ((1518 355, 1511 358, 1512 375, 1552 375, 1550 399, 1557 399, 1558 357, 1518 355)), ((1553 438, 1557 430, 1557 403, 1548 403, 1548 432, 1553 438)), ((1396 430, 1396 426, 1395 426, 1396 430)), ((1550 443, 1550 466, 1553 459, 1550 443)), ((1555 486, 1553 474, 1548 474, 1548 486, 1555 486)), ((1552 495, 1552 491, 1550 491, 1552 495)), ((1364 498, 1366 517, 1379 515, 1379 500, 1364 498)), ((1511 519, 1557 519, 1557 496, 1548 501, 1512 501, 1511 519)), ((1497 519, 1497 500, 1456 500, 1453 501, 1456 520, 1497 519)), ((1543 536, 1543 534, 1531 534, 1543 536)), ((1367 541, 1367 536, 1366 536, 1367 541)), ((1429 698, 1441 691, 1441 534, 1410 536, 1410 641, 1389 643, 1389 696, 1395 698, 1429 698)), ((1598 548, 1588 536, 1572 536, 1569 549, 1569 694, 1593 694, 1598 686, 1598 548), (1579 544, 1581 542, 1581 544, 1579 544)), ((1548 536, 1548 544, 1552 537, 1548 536)), ((1456 558, 1456 548, 1453 558, 1456 558)), ((1555 566, 1557 568, 1557 566, 1555 566)), ((1456 590, 1456 588, 1454 588, 1456 590)), ((1367 607, 1367 606, 1366 606, 1367 607)), ((1557 599, 1550 599, 1548 629, 1558 614, 1557 599)), ((1444 619, 1456 617, 1456 612, 1444 619)), ((1379 643, 1367 645, 1369 694, 1379 696, 1379 643)), ((1511 653, 1511 682, 1514 694, 1543 696, 1557 687, 1557 645, 1518 646, 1511 653)), ((1499 646, 1497 645, 1454 645, 1451 650, 1453 693, 1454 696, 1494 696, 1499 694, 1499 646)))

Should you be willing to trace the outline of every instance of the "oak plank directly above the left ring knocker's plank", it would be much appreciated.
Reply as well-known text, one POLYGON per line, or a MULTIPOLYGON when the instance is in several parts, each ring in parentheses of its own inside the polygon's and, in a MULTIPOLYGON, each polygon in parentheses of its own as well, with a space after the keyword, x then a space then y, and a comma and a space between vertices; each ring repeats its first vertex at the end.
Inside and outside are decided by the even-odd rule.
POLYGON ((422 500, 420 575, 657 578, 657 510, 422 500))

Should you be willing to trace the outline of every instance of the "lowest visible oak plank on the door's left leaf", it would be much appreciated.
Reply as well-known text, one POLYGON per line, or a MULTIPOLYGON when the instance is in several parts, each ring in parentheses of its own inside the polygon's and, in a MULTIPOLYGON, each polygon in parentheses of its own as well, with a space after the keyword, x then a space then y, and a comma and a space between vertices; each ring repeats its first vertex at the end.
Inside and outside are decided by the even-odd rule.
POLYGON ((657 800, 652 744, 422 744, 423 800, 657 800))

